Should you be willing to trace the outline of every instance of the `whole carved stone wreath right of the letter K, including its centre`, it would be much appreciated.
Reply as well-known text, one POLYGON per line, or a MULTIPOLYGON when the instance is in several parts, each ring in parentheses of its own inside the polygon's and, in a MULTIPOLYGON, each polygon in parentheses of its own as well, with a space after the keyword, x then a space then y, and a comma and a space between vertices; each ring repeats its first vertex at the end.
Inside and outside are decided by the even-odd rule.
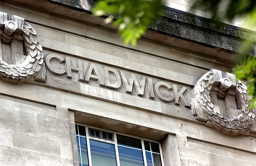
POLYGON ((246 133, 254 122, 254 110, 248 109, 247 87, 235 75, 211 69, 192 90, 191 109, 206 126, 230 135, 246 133))

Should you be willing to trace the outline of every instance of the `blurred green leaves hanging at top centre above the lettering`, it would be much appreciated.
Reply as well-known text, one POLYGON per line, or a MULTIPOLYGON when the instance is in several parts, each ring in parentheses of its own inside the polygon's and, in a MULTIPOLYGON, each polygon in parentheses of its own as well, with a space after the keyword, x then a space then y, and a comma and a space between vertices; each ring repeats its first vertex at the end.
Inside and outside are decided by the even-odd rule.
POLYGON ((137 39, 145 34, 148 25, 163 9, 162 0, 102 0, 92 9, 95 16, 108 15, 105 23, 118 27, 124 43, 136 46, 137 39))

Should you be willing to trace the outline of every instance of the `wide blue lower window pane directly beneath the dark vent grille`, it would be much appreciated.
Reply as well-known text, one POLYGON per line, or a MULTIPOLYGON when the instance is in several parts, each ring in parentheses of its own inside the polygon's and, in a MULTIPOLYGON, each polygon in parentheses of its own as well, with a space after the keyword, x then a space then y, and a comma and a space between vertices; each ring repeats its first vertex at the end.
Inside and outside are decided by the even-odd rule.
POLYGON ((90 139, 92 166, 116 166, 115 145, 90 139))

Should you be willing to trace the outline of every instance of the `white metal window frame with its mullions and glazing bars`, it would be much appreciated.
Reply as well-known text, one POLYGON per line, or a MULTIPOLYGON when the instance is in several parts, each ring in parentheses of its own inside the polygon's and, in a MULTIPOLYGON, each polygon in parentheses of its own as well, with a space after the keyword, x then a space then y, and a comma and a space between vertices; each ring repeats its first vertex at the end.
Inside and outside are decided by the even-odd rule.
MULTIPOLYGON (((164 164, 164 159, 163 159, 163 153, 162 153, 161 143, 158 142, 158 141, 154 141, 154 140, 146 139, 146 138, 142 138, 142 137, 137 137, 137 136, 125 134, 125 133, 122 133, 122 132, 116 132, 116 131, 112 131, 112 130, 108 130, 108 129, 104 129, 104 128, 100 128, 100 127, 96 127, 96 126, 90 126, 90 125, 86 125, 86 124, 82 124, 82 123, 75 123, 75 124, 85 127, 86 143, 87 143, 87 153, 88 153, 88 164, 89 164, 89 166, 92 166, 92 161, 91 161, 91 149, 90 149, 90 147, 91 147, 91 146, 90 146, 90 139, 96 140, 96 141, 101 141, 101 142, 106 142, 106 143, 110 143, 110 144, 112 144, 112 145, 115 145, 116 162, 117 162, 117 166, 120 166, 120 159, 119 159, 118 146, 123 146, 123 145, 118 145, 116 134, 123 135, 123 136, 128 136, 128 137, 132 137, 132 138, 137 138, 137 139, 140 139, 140 140, 141 140, 142 155, 143 155, 144 166, 148 166, 148 164, 147 164, 147 159, 146 159, 146 152, 150 152, 150 151, 148 151, 148 150, 145 150, 144 140, 145 140, 145 141, 150 141, 150 142, 158 143, 158 145, 159 145, 159 150, 160 150, 161 164, 162 164, 162 166, 165 166, 165 164, 164 164), (96 138, 96 137, 89 136, 89 129, 88 129, 88 128, 98 129, 98 130, 102 130, 102 131, 105 131, 105 132, 111 132, 111 133, 113 133, 113 135, 114 135, 114 141, 109 141, 109 140, 106 140, 106 139, 101 139, 101 138, 96 138)), ((81 145, 80 145, 80 137, 84 137, 84 138, 85 138, 85 136, 79 135, 79 129, 78 129, 78 134, 76 134, 76 136, 78 136, 78 141, 79 141, 79 142, 77 142, 77 143, 79 143, 79 146, 81 146, 81 145)), ((151 146, 151 145, 150 145, 150 146, 151 146)), ((128 146, 124 146, 124 147, 128 147, 128 146)), ((131 148, 131 147, 128 147, 128 148, 131 148)), ((151 147, 150 147, 150 148, 151 148, 151 147)), ((134 149, 137 149, 137 148, 134 148, 134 149)), ((139 150, 141 150, 141 149, 139 149, 139 150)), ((152 152, 152 151, 151 151, 151 160, 152 160, 153 166, 155 166, 155 165, 154 165, 154 162, 153 162, 152 153, 156 153, 156 152, 152 152)), ((158 154, 158 153, 156 153, 156 154, 158 154)), ((78 158, 80 158, 81 163, 82 163, 81 148, 80 148, 80 156, 78 156, 78 158)))

